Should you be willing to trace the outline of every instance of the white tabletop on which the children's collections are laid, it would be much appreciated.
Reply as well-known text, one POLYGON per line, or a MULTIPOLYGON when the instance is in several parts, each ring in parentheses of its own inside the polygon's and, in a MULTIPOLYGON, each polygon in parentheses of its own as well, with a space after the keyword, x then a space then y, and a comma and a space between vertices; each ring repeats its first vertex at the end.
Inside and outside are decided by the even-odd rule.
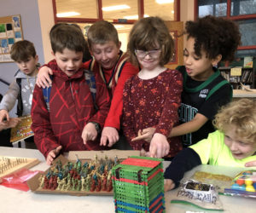
MULTIPOLYGON (((0 155, 13 156, 20 158, 38 158, 42 163, 34 166, 31 170, 47 170, 49 166, 45 163, 44 156, 38 150, 0 147, 0 155)), ((166 166, 166 162, 164 164, 166 166)), ((226 167, 214 167, 210 165, 201 165, 194 170, 189 171, 186 176, 192 176, 195 170, 222 173, 227 176, 234 176, 241 169, 230 169, 226 167)), ((175 197, 176 190, 166 193, 166 212, 186 212, 188 210, 195 212, 207 212, 195 207, 182 204, 171 204, 170 201, 175 197)), ((85 196, 75 197, 63 194, 43 194, 32 193, 31 191, 22 192, 0 185, 0 211, 4 213, 98 213, 114 212, 113 196, 85 196)), ((230 213, 254 213, 256 212, 256 199, 244 199, 240 197, 230 197, 220 195, 220 200, 224 204, 224 212, 230 213)), ((209 211, 214 212, 214 211, 209 211)), ((219 212, 219 211, 218 211, 219 212)))

